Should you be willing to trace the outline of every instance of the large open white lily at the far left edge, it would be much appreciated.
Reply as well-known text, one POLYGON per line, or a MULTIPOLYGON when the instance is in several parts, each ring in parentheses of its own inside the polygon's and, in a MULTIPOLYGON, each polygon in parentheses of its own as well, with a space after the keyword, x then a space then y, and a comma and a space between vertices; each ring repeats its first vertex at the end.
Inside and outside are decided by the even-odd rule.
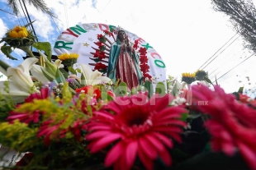
MULTIPOLYGON (((10 94, 17 103, 23 102, 30 95, 31 91, 36 91, 31 79, 30 69, 37 61, 38 59, 36 57, 30 57, 17 67, 7 68, 7 76, 10 76, 10 94)), ((3 90, 4 87, 4 82, 0 82, 1 93, 6 95, 7 92, 3 90)))

